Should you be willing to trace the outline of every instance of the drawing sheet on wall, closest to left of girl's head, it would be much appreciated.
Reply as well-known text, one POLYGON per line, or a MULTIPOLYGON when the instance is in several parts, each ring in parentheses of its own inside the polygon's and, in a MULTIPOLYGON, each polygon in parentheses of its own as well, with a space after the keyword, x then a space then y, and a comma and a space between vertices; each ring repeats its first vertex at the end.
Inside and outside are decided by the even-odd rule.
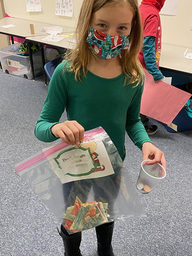
POLYGON ((73 0, 55 0, 56 12, 55 15, 73 16, 73 0))

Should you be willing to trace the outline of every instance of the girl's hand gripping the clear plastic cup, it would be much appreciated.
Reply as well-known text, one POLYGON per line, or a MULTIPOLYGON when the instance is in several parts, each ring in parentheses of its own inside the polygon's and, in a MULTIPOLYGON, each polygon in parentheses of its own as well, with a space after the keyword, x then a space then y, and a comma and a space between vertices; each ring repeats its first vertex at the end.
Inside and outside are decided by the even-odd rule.
POLYGON ((152 161, 149 161, 147 165, 152 164, 161 164, 166 171, 166 160, 164 157, 164 153, 156 148, 151 142, 144 142, 142 145, 142 153, 143 153, 143 161, 148 158, 152 161))

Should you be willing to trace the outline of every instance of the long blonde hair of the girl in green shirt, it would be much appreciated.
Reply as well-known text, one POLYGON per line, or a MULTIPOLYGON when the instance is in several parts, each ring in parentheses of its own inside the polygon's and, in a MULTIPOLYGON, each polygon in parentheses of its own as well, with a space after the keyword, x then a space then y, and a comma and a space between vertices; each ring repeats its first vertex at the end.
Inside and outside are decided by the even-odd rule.
MULTIPOLYGON (((138 1, 137 0, 84 0, 81 6, 76 32, 75 40, 76 47, 74 50, 68 50, 63 60, 70 61, 69 71, 75 73, 75 80, 81 81, 82 76, 86 76, 87 67, 91 59, 91 51, 86 42, 88 36, 89 23, 93 12, 98 11, 101 7, 117 4, 128 3, 133 12, 132 26, 130 32, 128 50, 125 50, 117 57, 122 66, 122 71, 125 74, 124 85, 137 82, 136 86, 143 82, 143 69, 138 59, 138 54, 143 44, 143 28, 140 20, 138 1), (128 83, 127 83, 127 78, 128 83)), ((66 62, 66 63, 67 63, 66 62)), ((65 67, 65 66, 64 66, 65 67)), ((64 69, 63 69, 64 72, 64 69)))

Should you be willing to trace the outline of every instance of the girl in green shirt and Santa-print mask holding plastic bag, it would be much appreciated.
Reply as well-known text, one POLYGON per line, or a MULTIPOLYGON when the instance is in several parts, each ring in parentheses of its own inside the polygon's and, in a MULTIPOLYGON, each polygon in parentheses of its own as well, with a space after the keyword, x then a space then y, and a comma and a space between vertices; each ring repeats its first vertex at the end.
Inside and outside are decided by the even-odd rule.
MULTIPOLYGON (((101 126, 125 158, 128 133, 143 152, 143 160, 161 163, 164 153, 150 141, 140 121, 143 71, 138 60, 142 25, 137 0, 84 0, 76 28, 76 48, 58 65, 35 134, 71 145, 84 140, 84 130, 101 126), (65 110, 68 121, 59 123, 65 110)), ((69 186, 70 187, 70 186, 69 186)), ((96 227, 98 253, 113 256, 114 222, 96 227)), ((69 235, 61 225, 65 256, 81 255, 81 232, 69 235)))

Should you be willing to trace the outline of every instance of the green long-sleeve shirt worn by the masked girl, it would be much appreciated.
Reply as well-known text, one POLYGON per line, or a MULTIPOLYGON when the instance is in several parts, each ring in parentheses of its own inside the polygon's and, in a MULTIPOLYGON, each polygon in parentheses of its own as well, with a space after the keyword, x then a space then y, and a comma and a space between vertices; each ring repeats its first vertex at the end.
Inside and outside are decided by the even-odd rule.
POLYGON ((101 126, 115 144, 122 160, 125 158, 125 130, 140 149, 146 141, 151 142, 140 121, 140 102, 143 85, 124 84, 124 74, 107 79, 88 71, 82 83, 75 81, 64 63, 55 69, 48 86, 44 107, 35 127, 37 139, 57 140, 51 127, 60 121, 65 108, 68 120, 76 120, 85 131, 101 126))

